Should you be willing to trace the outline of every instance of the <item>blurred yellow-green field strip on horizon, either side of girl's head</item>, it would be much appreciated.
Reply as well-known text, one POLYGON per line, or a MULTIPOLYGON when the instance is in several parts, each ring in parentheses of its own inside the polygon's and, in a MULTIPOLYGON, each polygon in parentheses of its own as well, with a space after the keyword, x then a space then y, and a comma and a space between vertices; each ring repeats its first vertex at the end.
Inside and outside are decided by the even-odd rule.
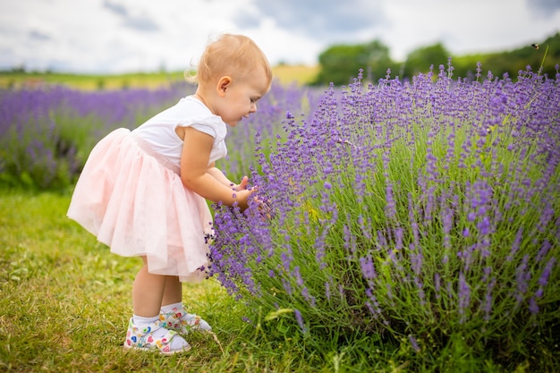
MULTIPOLYGON (((318 66, 282 64, 273 68, 275 78, 283 84, 313 81, 318 66)), ((182 72, 147 72, 119 75, 77 75, 58 72, 0 72, 0 89, 32 89, 45 85, 65 85, 73 89, 157 89, 182 81, 182 72)))

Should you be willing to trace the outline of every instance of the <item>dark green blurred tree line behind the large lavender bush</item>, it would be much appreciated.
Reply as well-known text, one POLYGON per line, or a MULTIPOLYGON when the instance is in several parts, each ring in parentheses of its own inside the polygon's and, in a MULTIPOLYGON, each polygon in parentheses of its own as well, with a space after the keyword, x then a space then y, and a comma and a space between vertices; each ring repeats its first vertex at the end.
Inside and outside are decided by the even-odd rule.
POLYGON ((451 57, 454 66, 453 76, 474 79, 477 64, 481 64, 484 74, 492 72, 495 77, 507 73, 515 78, 527 66, 533 71, 542 67, 542 73, 550 77, 556 74, 556 64, 560 63, 560 33, 556 33, 539 44, 532 44, 510 51, 479 54, 452 55, 442 43, 419 47, 406 56, 404 62, 391 59, 389 47, 375 39, 363 44, 339 44, 328 47, 318 56, 320 71, 313 85, 335 83, 344 85, 352 81, 363 70, 366 81, 378 81, 386 77, 387 69, 391 76, 401 80, 412 79, 419 72, 428 72, 431 65, 437 72, 440 64, 445 68, 451 57))

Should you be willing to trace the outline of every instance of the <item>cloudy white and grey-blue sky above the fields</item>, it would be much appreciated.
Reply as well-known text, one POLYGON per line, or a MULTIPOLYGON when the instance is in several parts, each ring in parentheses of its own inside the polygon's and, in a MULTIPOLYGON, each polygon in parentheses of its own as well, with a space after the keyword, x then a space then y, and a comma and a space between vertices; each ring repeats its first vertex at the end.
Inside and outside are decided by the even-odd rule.
POLYGON ((0 0, 0 69, 182 71, 224 32, 253 38, 273 65, 374 39, 395 61, 437 42, 501 52, 560 32, 560 0, 0 0))

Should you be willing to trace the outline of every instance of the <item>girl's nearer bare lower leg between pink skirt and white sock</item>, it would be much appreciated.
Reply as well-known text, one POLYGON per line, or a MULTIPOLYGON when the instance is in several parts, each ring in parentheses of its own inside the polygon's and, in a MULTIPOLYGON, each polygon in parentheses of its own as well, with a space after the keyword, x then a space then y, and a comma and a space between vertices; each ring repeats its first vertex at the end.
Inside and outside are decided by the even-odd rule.
POLYGON ((166 276, 148 273, 146 257, 132 286, 132 307, 134 315, 150 318, 159 315, 164 298, 166 276))

